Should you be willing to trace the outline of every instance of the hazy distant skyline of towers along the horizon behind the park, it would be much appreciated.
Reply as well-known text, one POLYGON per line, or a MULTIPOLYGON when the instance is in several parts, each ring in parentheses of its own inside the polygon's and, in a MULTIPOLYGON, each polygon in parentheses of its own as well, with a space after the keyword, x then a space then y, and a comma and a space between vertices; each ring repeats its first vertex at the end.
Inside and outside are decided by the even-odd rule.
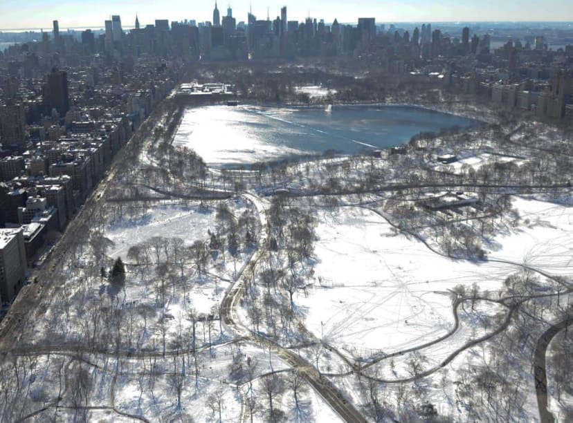
MULTIPOLYGON (((246 22, 237 23, 230 8, 221 17, 216 3, 212 22, 156 19, 141 26, 136 18, 134 28, 125 31, 120 17, 112 16, 102 32, 82 32, 81 41, 62 35, 57 21, 53 25, 53 46, 60 54, 122 58, 123 68, 109 75, 116 83, 133 66, 134 57, 146 55, 192 61, 346 55, 357 64, 374 64, 383 73, 435 76, 448 88, 486 97, 508 109, 556 119, 573 113, 573 45, 551 50, 543 36, 525 42, 510 39, 493 48, 489 33, 472 34, 469 27, 460 33, 451 28, 442 32, 430 23, 386 28, 370 17, 358 19, 356 25, 339 24, 336 19, 327 25, 310 17, 289 21, 286 6, 276 19, 257 19, 249 12, 246 22)), ((28 48, 34 57, 38 50, 50 51, 50 46, 44 32, 44 40, 28 48)), ((34 75, 35 59, 27 60, 32 63, 19 64, 15 73, 34 75)), ((46 84, 46 95, 53 84, 46 84)))

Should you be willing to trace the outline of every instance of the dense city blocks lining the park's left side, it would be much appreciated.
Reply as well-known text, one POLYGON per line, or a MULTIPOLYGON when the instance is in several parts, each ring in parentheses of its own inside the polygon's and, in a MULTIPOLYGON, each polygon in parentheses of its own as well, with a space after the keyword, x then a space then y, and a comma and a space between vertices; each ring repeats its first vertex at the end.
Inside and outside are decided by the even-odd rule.
POLYGON ((115 61, 78 60, 57 37, 32 51, 0 55, 0 303, 183 72, 183 62, 139 57, 119 78, 115 61))

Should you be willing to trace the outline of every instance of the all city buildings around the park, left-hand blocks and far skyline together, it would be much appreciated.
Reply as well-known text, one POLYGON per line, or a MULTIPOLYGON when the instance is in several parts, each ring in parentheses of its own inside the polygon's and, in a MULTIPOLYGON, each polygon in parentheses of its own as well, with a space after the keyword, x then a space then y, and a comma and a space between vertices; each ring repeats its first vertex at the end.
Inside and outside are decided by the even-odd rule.
MULTIPOLYGON (((53 21, 51 33, 0 51, 1 254, 10 252, 10 263, 33 262, 134 129, 185 68, 200 62, 344 56, 354 70, 374 70, 381 79, 419 75, 436 88, 540 118, 573 114, 573 46, 552 50, 539 36, 495 48, 488 33, 460 29, 386 28, 370 17, 352 25, 289 21, 286 7, 273 20, 248 13, 237 23, 233 10, 221 17, 217 5, 212 22, 157 19, 142 26, 136 18, 127 31, 119 16, 105 21, 104 30, 80 33, 60 32, 53 21), (24 260, 16 259, 20 252, 24 260)), ((191 84, 179 92, 201 97, 228 89, 191 84)), ((22 273, 6 271, 6 260, 3 300, 22 283, 22 273)))

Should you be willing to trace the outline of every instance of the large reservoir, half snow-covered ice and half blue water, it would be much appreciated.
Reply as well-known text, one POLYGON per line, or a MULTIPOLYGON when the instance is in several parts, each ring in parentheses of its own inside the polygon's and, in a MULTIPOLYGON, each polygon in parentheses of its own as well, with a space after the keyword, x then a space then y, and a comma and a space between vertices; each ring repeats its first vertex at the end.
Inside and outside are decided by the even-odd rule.
POLYGON ((188 109, 174 143, 210 166, 229 167, 336 150, 356 154, 405 144, 422 131, 469 127, 475 120, 410 106, 188 109))

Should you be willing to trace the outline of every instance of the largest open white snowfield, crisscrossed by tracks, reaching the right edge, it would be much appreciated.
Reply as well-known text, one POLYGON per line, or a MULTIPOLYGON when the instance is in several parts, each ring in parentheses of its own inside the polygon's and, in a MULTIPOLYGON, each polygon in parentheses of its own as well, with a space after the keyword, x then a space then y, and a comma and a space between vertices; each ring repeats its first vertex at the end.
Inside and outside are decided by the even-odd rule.
MULTIPOLYGON (((495 238, 501 248, 491 259, 570 274, 573 210, 520 198, 514 205, 530 226, 495 238)), ((496 292, 518 270, 511 263, 453 261, 390 229, 367 209, 325 214, 317 229, 315 286, 308 297, 295 298, 316 337, 356 357, 395 353, 445 335, 454 323, 448 290, 475 283, 496 292)), ((444 342, 450 341, 458 344, 444 342)))

